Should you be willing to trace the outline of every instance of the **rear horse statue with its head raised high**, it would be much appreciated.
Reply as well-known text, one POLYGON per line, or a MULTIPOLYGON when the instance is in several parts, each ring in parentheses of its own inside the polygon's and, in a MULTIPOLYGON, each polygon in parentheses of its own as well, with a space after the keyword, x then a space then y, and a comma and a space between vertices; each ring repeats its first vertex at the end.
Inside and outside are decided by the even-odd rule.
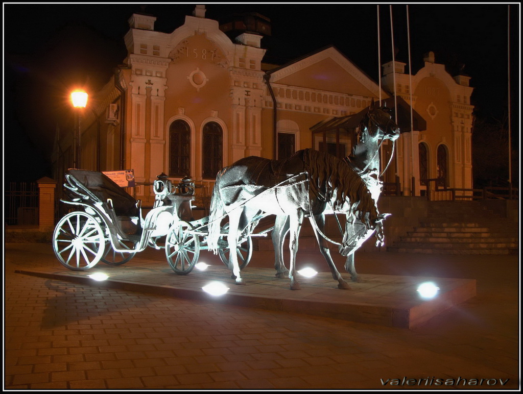
MULTIPOLYGON (((384 140, 395 141, 399 135, 399 129, 391 120, 389 110, 385 107, 380 108, 372 101, 368 113, 362 118, 357 129, 351 155, 344 159, 345 164, 357 173, 363 183, 365 183, 376 205, 381 193, 379 149, 384 140)), ((334 262, 323 234, 325 227, 324 214, 328 213, 333 212, 325 211, 311 217, 311 224, 313 225, 320 252, 329 266, 332 266, 334 262)), ((272 244, 275 250, 275 268, 277 270, 276 276, 278 277, 281 277, 282 273, 286 272, 285 263, 283 262, 283 241, 288 231, 289 218, 284 215, 277 216, 274 230, 272 231, 272 244)), ((350 274, 353 282, 361 281, 355 269, 355 251, 372 236, 373 232, 373 229, 369 229, 365 223, 362 223, 357 218, 351 218, 350 215, 346 217, 345 233, 339 249, 343 256, 347 256, 345 269, 350 274)), ((381 241, 381 239, 378 239, 378 242, 381 241)), ((349 288, 345 285, 338 287, 349 288)))

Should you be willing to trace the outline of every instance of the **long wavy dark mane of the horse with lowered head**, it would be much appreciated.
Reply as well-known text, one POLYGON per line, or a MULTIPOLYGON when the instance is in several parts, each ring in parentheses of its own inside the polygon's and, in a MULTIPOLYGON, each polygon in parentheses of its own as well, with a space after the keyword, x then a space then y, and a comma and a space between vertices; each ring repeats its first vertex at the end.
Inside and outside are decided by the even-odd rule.
POLYGON ((303 161, 309 173, 311 199, 329 201, 336 193, 335 210, 342 208, 348 200, 349 211, 361 222, 371 225, 378 217, 376 202, 368 187, 343 160, 317 150, 304 149, 303 161))

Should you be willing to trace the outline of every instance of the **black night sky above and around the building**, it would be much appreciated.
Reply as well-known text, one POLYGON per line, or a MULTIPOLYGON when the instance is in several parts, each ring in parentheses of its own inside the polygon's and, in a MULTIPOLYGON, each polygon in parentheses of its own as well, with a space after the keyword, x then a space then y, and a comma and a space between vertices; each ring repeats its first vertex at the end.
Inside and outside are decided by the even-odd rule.
MULTIPOLYGON (((183 25, 194 4, 3 4, 4 183, 50 176, 49 150, 57 124, 73 117, 68 94, 77 84, 95 92, 127 55, 123 36, 136 12, 156 16, 155 30, 183 25)), ((381 63, 392 60, 389 5, 380 5, 381 63)), ((508 5, 410 4, 392 7, 396 60, 423 66, 435 52, 453 76, 470 76, 477 117, 502 119, 508 101, 508 5)), ((378 82, 377 5, 212 4, 206 17, 256 12, 271 20, 272 37, 261 41, 266 61, 283 64, 334 45, 378 82)), ((519 134, 519 4, 510 5, 512 129, 519 134)))

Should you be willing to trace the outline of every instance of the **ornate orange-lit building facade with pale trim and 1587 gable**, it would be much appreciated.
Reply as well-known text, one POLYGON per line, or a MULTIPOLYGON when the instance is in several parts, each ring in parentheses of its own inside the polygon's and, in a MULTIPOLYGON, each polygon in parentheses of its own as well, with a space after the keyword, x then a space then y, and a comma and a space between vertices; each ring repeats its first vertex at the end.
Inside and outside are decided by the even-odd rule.
MULTIPOLYGON (((152 205, 151 185, 160 173, 174 183, 189 176, 198 187, 197 204, 206 205, 222 167, 251 155, 328 150, 335 141, 315 135, 315 125, 384 100, 393 108, 400 101, 407 110, 395 113, 420 120, 398 120, 406 126, 384 180, 399 182, 404 195, 423 195, 438 182, 472 188, 469 77, 451 77, 430 53, 415 75, 405 74, 404 63, 384 64, 380 87, 334 47, 270 67, 261 32, 233 41, 205 12, 196 6, 172 33, 155 31, 154 16, 131 16, 125 65, 82 118, 82 168, 133 169, 136 187, 128 191, 144 205, 152 205)), ((270 29, 260 21, 260 31, 270 29)), ((337 142, 340 155, 350 153, 349 139, 337 142)), ((382 162, 391 149, 384 147, 382 162)), ((55 164, 55 176, 63 179, 70 162, 55 164)))

